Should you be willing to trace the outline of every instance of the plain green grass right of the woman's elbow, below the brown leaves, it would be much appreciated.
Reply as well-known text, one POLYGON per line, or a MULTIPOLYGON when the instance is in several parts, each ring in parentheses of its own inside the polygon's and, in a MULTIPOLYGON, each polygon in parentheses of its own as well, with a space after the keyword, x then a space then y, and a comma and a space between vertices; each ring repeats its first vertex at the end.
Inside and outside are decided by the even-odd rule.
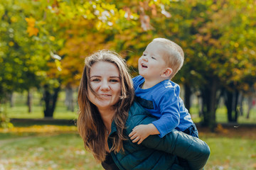
POLYGON ((255 139, 238 137, 201 137, 210 147, 210 159, 205 169, 253 170, 256 168, 255 139))

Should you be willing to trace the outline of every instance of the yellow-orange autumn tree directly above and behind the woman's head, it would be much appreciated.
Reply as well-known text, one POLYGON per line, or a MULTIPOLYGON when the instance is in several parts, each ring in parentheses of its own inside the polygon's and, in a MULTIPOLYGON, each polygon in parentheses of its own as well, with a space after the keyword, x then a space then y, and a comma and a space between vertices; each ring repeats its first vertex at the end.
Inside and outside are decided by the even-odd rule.
MULTIPOLYGON (((134 4, 139 2, 134 1, 134 4)), ((58 79, 58 83, 61 82, 63 86, 78 86, 83 67, 81 63, 85 56, 102 48, 118 49, 115 47, 118 46, 118 42, 114 40, 116 35, 122 34, 129 28, 140 27, 139 16, 132 12, 129 1, 116 2, 117 5, 113 1, 37 1, 36 3, 41 4, 41 11, 39 14, 31 13, 31 17, 27 19, 28 34, 38 38, 39 42, 48 44, 51 51, 55 52, 52 57, 61 58, 60 61, 55 59, 55 64, 48 60, 50 69, 47 74, 51 79, 58 79), (126 6, 127 4, 129 6, 126 6), (40 13, 43 13, 43 17, 40 13), (33 19, 36 20, 34 23, 38 24, 30 25, 33 19), (38 31, 35 31, 36 29, 38 31), (51 34, 52 30, 54 30, 54 36, 51 34), (52 39, 60 41, 54 44, 54 49, 50 46, 53 44, 50 41, 52 39)), ((139 6, 134 10, 136 11, 137 8, 139 6)), ((131 33, 131 30, 127 33, 131 33)), ((47 49, 44 50, 49 52, 47 49)), ((48 96, 45 99, 56 96, 56 94, 49 95, 48 88, 45 88, 45 91, 44 96, 48 96)), ((46 107, 49 106, 47 104, 49 101, 49 99, 46 100, 46 107)), ((54 109, 45 109, 45 115, 47 111, 54 111, 54 109)))

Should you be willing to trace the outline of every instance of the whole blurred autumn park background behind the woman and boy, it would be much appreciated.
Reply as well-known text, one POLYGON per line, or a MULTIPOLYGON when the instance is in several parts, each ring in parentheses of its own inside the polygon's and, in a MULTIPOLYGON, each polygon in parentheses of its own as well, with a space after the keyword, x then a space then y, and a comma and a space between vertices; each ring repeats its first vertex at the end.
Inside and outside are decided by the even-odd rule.
POLYGON ((255 0, 0 0, 0 170, 102 169, 75 127, 85 57, 118 52, 137 76, 154 38, 211 149, 206 169, 256 169, 255 0))

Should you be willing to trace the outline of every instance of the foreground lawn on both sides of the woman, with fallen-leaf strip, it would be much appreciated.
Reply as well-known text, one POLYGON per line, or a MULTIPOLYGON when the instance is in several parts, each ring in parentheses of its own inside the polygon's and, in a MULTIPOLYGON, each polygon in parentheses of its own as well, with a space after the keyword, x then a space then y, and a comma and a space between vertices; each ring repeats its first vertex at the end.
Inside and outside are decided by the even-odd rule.
MULTIPOLYGON (((205 169, 256 169, 256 128, 198 129, 211 154, 205 169)), ((0 169, 102 169, 86 152, 75 126, 33 125, 0 129, 0 169)))

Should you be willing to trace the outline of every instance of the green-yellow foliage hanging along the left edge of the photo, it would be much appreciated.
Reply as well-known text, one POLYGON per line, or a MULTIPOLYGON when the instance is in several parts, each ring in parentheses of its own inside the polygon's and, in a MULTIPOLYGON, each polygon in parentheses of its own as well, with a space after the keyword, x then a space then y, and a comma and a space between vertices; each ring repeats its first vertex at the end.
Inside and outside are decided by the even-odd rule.
POLYGON ((46 65, 43 54, 36 50, 36 38, 29 38, 26 32, 25 18, 30 10, 25 4, 30 9, 31 2, 25 0, 1 0, 0 99, 11 91, 38 86, 46 65))

